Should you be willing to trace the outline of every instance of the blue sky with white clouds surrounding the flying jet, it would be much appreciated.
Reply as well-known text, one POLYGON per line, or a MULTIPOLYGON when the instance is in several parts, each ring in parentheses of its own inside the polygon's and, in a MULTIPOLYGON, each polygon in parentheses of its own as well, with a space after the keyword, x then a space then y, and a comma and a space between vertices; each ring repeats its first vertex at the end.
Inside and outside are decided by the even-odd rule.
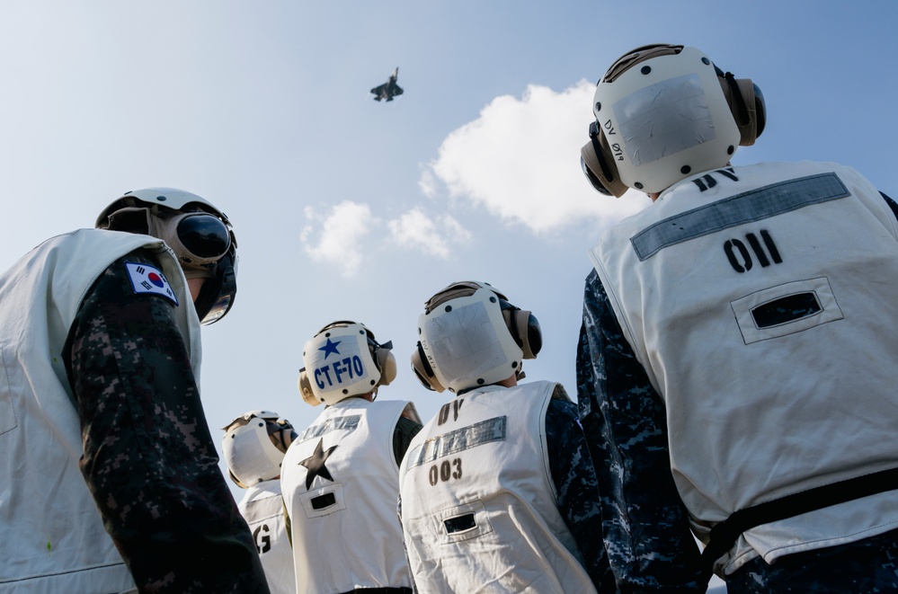
POLYGON ((173 186, 238 238, 236 306, 203 330, 217 437, 253 409, 313 421, 302 347, 337 319, 393 341, 399 377, 380 397, 431 416, 447 397, 411 374, 416 321, 461 279, 537 315, 545 347, 524 368, 574 395, 586 250, 647 203, 582 179, 610 63, 698 47, 767 101, 734 164, 836 161, 898 197, 896 16, 886 0, 6 0, 0 269, 124 191, 173 186), (396 66, 405 94, 372 101, 396 66))

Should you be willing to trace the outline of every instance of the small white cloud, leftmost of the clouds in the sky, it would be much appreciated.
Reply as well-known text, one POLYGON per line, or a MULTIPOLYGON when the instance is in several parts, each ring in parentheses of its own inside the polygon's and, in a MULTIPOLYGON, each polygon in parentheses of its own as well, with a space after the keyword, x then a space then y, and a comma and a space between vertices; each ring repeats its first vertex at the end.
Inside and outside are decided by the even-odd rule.
POLYGON ((371 208, 344 200, 319 215, 312 207, 305 208, 307 224, 299 239, 303 249, 316 262, 327 262, 351 277, 363 260, 362 239, 379 221, 371 216, 371 208))

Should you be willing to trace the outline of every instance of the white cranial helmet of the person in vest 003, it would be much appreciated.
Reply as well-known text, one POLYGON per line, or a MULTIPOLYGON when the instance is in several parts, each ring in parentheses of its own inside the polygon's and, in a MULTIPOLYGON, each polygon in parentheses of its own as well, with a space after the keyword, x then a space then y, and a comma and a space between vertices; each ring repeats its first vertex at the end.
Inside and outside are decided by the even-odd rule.
POLYGON ((522 359, 536 359, 539 323, 488 283, 462 281, 428 300, 418 317, 412 368, 422 385, 460 393, 523 377, 522 359))

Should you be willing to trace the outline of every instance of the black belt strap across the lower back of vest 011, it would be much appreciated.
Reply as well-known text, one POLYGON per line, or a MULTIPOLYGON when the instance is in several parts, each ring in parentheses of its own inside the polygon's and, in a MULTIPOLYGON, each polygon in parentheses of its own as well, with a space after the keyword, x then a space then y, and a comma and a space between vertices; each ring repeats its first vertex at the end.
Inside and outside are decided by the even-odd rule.
POLYGON ((734 511, 732 516, 711 528, 710 542, 701 554, 703 576, 706 580, 711 579, 714 562, 749 528, 895 489, 898 489, 898 468, 890 468, 734 511))

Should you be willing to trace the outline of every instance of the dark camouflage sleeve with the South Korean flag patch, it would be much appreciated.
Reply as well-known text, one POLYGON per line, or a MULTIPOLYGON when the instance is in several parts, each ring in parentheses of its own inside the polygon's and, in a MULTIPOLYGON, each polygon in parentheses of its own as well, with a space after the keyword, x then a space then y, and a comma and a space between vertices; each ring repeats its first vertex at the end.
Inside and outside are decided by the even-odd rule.
POLYGON ((140 591, 268 592, 218 469, 173 304, 136 296, 124 261, 84 298, 64 351, 84 439, 80 466, 140 591))

